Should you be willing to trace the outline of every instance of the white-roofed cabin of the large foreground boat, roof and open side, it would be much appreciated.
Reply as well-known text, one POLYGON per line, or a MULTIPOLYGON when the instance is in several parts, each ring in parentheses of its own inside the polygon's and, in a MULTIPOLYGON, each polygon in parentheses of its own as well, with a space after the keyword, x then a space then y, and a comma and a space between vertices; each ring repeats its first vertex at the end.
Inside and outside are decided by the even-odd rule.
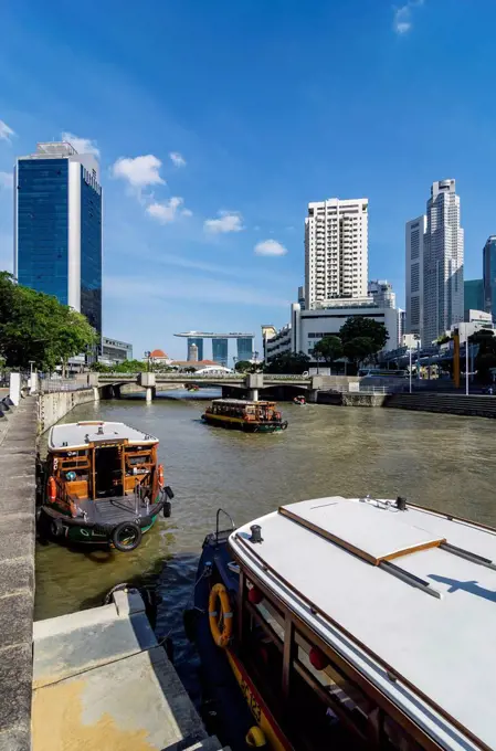
POLYGON ((241 527, 229 550, 234 667, 255 718, 273 716, 271 748, 496 748, 495 530, 328 497, 241 527))

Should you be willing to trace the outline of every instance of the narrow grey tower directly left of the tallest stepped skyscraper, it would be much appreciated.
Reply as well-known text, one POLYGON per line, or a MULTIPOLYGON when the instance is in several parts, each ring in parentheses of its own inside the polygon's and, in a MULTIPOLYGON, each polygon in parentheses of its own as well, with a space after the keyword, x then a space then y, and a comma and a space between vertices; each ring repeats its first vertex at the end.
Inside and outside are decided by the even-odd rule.
POLYGON ((407 315, 403 334, 416 334, 423 339, 424 314, 424 235, 428 218, 422 214, 407 222, 405 248, 405 298, 407 315))

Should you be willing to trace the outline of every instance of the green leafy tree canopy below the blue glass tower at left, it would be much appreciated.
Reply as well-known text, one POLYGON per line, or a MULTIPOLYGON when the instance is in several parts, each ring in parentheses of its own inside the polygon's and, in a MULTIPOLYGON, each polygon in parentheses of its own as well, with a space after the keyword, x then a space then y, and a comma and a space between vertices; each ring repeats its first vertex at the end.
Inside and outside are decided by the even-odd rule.
POLYGON ((85 316, 0 272, 0 357, 7 367, 53 370, 97 343, 85 316))

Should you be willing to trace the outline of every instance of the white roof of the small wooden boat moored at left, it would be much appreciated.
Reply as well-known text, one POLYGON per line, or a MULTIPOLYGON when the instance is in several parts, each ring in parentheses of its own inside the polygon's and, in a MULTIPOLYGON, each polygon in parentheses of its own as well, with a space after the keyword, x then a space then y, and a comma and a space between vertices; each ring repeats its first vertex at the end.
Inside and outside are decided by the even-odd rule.
POLYGON ((49 451, 81 448, 89 443, 123 442, 129 444, 154 444, 158 438, 125 423, 87 421, 54 425, 49 434, 49 451))

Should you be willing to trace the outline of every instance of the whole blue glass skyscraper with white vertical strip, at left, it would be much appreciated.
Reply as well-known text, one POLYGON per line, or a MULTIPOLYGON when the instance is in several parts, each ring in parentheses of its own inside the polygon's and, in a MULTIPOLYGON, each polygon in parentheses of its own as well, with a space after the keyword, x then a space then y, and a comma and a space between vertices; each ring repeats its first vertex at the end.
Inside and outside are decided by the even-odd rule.
POLYGON ((14 169, 14 274, 54 295, 102 334, 98 162, 65 142, 38 144, 14 169))

